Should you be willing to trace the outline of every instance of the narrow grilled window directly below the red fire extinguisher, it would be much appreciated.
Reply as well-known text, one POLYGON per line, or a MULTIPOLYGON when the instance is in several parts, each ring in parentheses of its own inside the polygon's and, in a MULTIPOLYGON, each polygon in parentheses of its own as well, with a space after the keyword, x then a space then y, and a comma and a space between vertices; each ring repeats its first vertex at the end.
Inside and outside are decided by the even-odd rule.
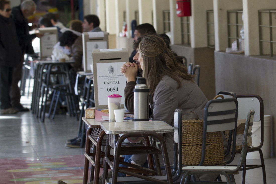
POLYGON ((181 39, 182 44, 191 45, 190 17, 181 17, 181 39))

